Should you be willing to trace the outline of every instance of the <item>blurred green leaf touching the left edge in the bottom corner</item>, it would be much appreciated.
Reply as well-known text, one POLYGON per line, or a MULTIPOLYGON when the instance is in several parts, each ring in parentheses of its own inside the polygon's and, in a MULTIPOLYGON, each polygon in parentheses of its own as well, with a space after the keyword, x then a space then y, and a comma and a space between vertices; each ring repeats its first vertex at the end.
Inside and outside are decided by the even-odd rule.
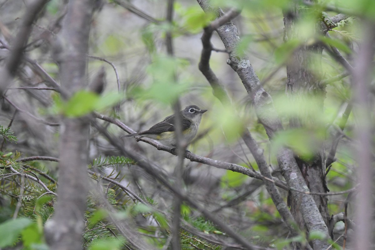
POLYGON ((0 247, 12 245, 17 240, 21 231, 31 224, 31 220, 27 218, 17 218, 15 220, 7 220, 0 224, 0 247))

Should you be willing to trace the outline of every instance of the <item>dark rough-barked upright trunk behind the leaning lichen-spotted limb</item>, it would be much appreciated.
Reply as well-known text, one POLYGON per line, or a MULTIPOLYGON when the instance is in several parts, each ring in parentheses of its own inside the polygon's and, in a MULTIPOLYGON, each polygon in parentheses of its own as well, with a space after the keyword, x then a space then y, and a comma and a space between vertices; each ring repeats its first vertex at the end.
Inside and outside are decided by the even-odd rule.
MULTIPOLYGON (((290 10, 288 13, 284 13, 284 25, 285 25, 285 40, 286 42, 290 39, 298 39, 299 32, 296 28, 296 22, 303 18, 303 12, 299 11, 297 7, 290 10)), ((317 22, 315 34, 322 34, 320 22, 317 22)), ((313 97, 317 100, 319 109, 323 113, 323 102, 325 98, 325 87, 320 86, 320 79, 317 77, 321 75, 321 55, 323 48, 318 43, 314 45, 306 45, 307 41, 302 42, 302 45, 297 48, 290 61, 287 63, 287 85, 286 93, 290 99, 291 105, 296 105, 300 99, 305 97, 313 97)), ((300 119, 293 117, 290 119, 291 128, 299 127, 314 127, 314 119, 309 119, 309 117, 314 117, 309 114, 311 111, 305 110, 304 116, 307 119, 300 119), (306 122, 307 121, 307 122, 306 122)), ((298 156, 295 156, 297 164, 302 172, 303 178, 312 193, 326 193, 329 190, 326 185, 326 167, 324 164, 324 143, 321 143, 320 149, 314 152, 314 157, 309 160, 303 160, 298 156)), ((326 225, 329 222, 329 213, 327 202, 327 196, 313 195, 315 203, 324 219, 326 225)), ((300 200, 297 200, 295 196, 289 195, 288 203, 291 207, 291 212, 299 224, 300 228, 306 228, 305 222, 302 219, 300 213, 300 200)), ((294 249, 298 249, 298 246, 294 246, 294 249)))

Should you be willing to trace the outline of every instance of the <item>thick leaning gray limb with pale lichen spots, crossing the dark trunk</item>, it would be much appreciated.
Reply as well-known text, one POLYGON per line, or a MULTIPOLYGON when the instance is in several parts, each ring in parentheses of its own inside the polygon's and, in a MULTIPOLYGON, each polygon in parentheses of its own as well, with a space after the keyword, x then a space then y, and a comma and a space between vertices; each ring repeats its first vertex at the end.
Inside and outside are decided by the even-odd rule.
MULTIPOLYGON (((221 9, 213 10, 209 1, 197 1, 205 12, 215 12, 218 17, 225 15, 221 9)), ((249 58, 245 54, 239 54, 236 52, 237 44, 239 43, 239 35, 236 25, 233 23, 226 23, 217 29, 217 33, 223 41, 225 48, 228 51, 231 51, 227 63, 240 76, 246 91, 248 91, 248 94, 253 99, 255 111, 257 112, 259 120, 266 129, 269 138, 272 139, 276 131, 283 129, 281 121, 275 111, 271 96, 261 86, 259 78, 250 64, 249 58)), ((293 151, 288 148, 282 148, 279 151, 277 158, 288 186, 293 190, 309 191, 297 162, 294 159, 293 151)), ((294 195, 296 195, 296 199, 302 201, 300 209, 308 230, 320 231, 328 238, 328 228, 324 223, 313 197, 311 195, 297 192, 295 192, 294 195)), ((313 244, 314 248, 326 248, 329 246, 324 240, 315 240, 313 244)))

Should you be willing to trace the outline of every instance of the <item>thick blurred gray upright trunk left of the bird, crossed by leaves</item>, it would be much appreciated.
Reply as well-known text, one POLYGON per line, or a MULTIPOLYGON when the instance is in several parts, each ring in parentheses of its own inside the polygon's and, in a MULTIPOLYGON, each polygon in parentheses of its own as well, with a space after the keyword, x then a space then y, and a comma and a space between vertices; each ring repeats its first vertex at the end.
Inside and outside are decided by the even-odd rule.
MULTIPOLYGON (((71 0, 56 44, 62 87, 71 96, 86 87, 86 55, 93 4, 71 0)), ((87 196, 87 160, 90 119, 63 118, 60 132, 58 199, 54 217, 46 223, 49 247, 82 248, 87 196)))

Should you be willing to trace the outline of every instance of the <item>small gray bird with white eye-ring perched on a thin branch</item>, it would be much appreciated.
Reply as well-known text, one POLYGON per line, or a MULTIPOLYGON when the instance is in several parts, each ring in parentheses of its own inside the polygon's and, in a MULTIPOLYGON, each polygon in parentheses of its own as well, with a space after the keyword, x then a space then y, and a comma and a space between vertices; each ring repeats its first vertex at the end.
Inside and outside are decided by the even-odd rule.
MULTIPOLYGON (((199 124, 201 123, 202 114, 206 112, 207 109, 200 109, 196 105, 189 105, 180 111, 179 115, 181 117, 182 125, 182 138, 184 143, 189 144, 198 132, 199 124)), ((150 129, 133 133, 129 135, 120 136, 121 138, 141 136, 147 137, 161 142, 162 144, 169 147, 176 147, 175 139, 175 115, 169 115, 164 118, 164 120, 156 123, 150 129)))

